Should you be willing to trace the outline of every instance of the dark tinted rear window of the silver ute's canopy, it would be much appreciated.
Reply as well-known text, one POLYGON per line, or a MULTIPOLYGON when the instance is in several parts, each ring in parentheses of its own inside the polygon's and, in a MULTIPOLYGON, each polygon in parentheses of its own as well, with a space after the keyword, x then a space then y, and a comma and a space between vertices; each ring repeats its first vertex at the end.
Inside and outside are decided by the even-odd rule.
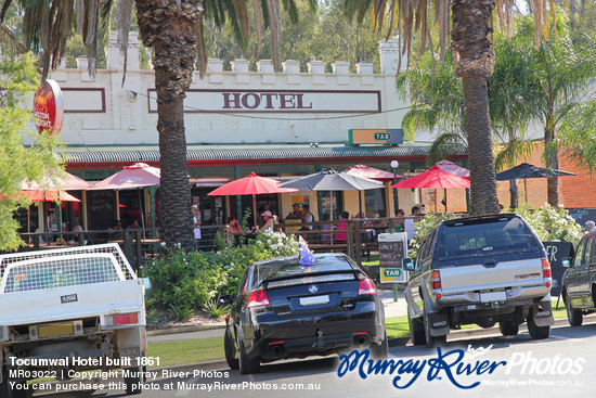
POLYGON ((445 222, 439 236, 439 257, 536 246, 532 231, 517 217, 445 222))

